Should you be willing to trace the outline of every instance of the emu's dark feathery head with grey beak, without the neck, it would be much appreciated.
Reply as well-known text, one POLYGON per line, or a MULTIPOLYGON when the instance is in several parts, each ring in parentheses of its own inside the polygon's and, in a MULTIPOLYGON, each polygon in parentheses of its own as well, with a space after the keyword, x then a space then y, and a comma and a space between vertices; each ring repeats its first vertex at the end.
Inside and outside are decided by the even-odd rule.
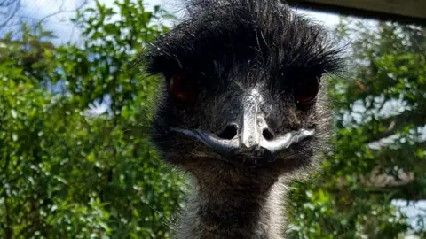
POLYGON ((285 173, 312 165, 337 69, 326 31, 265 0, 198 1, 146 53, 164 77, 153 141, 170 163, 285 173))

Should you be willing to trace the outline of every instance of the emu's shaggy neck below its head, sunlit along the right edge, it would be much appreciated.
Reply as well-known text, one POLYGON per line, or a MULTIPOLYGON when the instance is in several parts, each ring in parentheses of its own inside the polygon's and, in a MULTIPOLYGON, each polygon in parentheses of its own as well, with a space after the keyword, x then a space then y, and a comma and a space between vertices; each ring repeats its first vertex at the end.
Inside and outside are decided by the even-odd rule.
POLYGON ((179 238, 281 238, 280 182, 232 173, 208 176, 195 177, 179 238))

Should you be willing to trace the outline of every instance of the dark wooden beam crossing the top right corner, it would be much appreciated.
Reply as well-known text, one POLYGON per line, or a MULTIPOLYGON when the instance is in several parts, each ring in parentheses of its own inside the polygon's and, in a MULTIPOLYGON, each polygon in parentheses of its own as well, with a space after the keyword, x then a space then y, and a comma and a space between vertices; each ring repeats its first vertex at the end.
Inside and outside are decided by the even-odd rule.
POLYGON ((423 0, 281 0, 293 7, 338 14, 426 25, 423 0))

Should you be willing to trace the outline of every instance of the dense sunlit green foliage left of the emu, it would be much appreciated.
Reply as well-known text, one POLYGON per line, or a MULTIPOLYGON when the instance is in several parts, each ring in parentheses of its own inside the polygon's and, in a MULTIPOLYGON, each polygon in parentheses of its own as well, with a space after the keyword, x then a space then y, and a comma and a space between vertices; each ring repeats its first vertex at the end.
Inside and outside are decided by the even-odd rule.
POLYGON ((184 184, 143 136, 156 80, 133 64, 167 27, 142 1, 115 6, 78 12, 83 44, 25 25, 0 40, 1 237, 168 237, 184 184))

